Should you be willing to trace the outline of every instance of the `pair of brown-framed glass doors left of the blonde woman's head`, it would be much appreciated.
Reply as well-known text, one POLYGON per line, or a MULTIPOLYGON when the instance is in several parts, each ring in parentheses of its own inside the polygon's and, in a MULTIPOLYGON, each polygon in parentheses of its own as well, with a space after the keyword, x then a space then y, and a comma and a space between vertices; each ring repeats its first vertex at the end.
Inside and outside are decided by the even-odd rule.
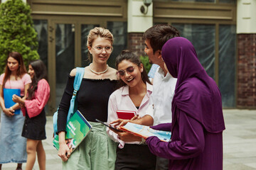
POLYGON ((63 96, 68 75, 75 67, 85 67, 87 60, 87 35, 90 29, 100 24, 84 24, 79 21, 52 21, 49 27, 48 62, 50 111, 55 111, 63 96))

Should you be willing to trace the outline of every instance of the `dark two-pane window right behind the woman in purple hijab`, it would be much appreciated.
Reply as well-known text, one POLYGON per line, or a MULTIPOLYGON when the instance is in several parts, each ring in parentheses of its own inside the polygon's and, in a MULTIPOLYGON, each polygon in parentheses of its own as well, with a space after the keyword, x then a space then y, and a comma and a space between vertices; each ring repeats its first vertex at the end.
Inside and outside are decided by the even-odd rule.
POLYGON ((223 107, 235 107, 235 49, 236 31, 234 25, 220 25, 218 47, 215 47, 215 25, 174 23, 182 37, 188 38, 196 48, 198 59, 213 79, 218 79, 223 107), (215 49, 218 49, 218 63, 215 63, 215 49), (218 64, 218 70, 215 70, 218 64), (216 77, 218 72, 218 77, 216 77))

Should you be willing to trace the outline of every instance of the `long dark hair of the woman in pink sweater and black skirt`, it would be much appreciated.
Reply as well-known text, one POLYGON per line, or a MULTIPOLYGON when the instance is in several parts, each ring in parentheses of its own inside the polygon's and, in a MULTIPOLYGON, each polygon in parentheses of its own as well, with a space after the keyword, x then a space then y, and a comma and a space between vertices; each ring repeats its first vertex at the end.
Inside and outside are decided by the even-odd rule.
POLYGON ((35 94, 35 91, 38 88, 38 81, 41 79, 46 79, 46 81, 48 81, 48 77, 47 77, 46 65, 43 63, 42 60, 33 60, 29 62, 29 64, 34 70, 32 83, 28 88, 28 100, 31 100, 31 98, 35 94))

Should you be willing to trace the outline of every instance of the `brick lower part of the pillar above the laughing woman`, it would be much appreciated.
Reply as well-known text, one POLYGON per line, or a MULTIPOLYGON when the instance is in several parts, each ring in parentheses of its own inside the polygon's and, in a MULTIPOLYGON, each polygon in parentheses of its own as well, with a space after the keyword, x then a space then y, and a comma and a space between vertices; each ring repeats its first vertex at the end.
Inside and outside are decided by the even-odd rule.
POLYGON ((143 33, 128 33, 128 49, 137 52, 137 55, 145 55, 143 33))

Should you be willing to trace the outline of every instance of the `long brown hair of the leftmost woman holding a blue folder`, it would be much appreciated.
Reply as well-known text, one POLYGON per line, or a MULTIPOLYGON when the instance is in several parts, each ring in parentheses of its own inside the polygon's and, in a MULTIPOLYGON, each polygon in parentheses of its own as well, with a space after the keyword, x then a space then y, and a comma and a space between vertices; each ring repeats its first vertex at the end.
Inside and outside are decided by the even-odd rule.
POLYGON ((23 62, 22 55, 19 52, 10 52, 8 57, 6 58, 6 67, 5 67, 5 70, 4 70, 3 87, 5 86, 6 81, 8 79, 10 79, 10 76, 11 76, 11 70, 9 69, 8 64, 7 64, 9 57, 13 57, 15 60, 18 61, 18 69, 17 69, 17 72, 16 72, 16 79, 18 77, 22 78, 23 75, 27 73, 25 64, 23 62))

